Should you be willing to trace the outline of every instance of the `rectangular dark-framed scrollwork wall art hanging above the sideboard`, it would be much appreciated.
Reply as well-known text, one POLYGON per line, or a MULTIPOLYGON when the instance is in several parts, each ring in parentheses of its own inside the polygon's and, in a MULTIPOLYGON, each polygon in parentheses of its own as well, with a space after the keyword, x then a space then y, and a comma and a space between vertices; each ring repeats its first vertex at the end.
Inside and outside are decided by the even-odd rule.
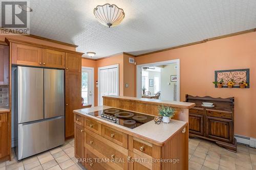
MULTIPOLYGON (((250 87, 250 69, 230 69, 230 70, 217 70, 215 71, 215 82, 220 82, 223 80, 223 88, 227 88, 228 82, 233 82, 233 88, 240 88, 240 83, 245 82, 247 86, 250 87)), ((215 85, 217 88, 217 84, 215 85)))

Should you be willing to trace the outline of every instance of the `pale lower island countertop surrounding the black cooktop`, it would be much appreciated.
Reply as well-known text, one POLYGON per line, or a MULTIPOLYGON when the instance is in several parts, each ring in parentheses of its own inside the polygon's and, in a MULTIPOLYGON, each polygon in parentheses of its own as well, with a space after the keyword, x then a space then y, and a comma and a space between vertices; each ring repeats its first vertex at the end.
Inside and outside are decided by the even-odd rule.
POLYGON ((96 107, 91 107, 91 108, 74 110, 74 113, 78 113, 80 115, 84 115, 86 117, 90 117, 90 118, 99 120, 100 122, 104 122, 104 123, 110 124, 112 126, 116 126, 120 129, 126 131, 127 133, 130 133, 130 134, 133 133, 138 136, 153 140, 157 143, 164 143, 168 138, 170 138, 178 130, 180 130, 182 127, 184 127, 186 125, 186 122, 182 122, 180 120, 173 120, 173 119, 170 120, 170 123, 168 123, 168 124, 161 122, 160 125, 157 125, 157 124, 155 124, 154 120, 152 120, 152 121, 145 123, 137 128, 130 129, 130 128, 126 128, 126 127, 118 125, 118 124, 108 122, 107 120, 101 119, 99 117, 95 117, 90 114, 87 114, 89 112, 94 112, 94 111, 109 109, 109 108, 113 108, 113 107, 96 106, 96 107))

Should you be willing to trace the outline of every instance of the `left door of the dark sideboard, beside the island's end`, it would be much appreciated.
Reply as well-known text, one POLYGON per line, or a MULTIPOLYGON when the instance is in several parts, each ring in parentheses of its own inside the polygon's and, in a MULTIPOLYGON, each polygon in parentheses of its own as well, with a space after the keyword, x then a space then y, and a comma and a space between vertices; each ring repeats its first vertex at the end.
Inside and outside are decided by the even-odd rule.
POLYGON ((204 135, 204 116, 189 114, 189 133, 204 135))

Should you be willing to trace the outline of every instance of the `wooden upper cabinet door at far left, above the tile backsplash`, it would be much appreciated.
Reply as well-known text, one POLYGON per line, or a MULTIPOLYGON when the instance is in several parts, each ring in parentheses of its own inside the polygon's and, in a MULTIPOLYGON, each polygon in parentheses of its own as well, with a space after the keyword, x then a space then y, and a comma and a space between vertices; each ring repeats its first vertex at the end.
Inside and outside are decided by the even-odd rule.
POLYGON ((9 84, 9 47, 0 45, 0 85, 9 84))

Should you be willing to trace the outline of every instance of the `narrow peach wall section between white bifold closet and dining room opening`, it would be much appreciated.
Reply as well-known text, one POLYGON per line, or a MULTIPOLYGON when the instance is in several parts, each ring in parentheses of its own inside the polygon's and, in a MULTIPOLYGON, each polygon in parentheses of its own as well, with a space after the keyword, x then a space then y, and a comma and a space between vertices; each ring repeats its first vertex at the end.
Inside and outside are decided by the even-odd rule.
MULTIPOLYGON (((136 77, 136 65, 129 63, 129 55, 123 55, 123 95, 124 96, 136 96, 136 84, 135 84, 135 77, 136 77), (125 84, 128 84, 128 87, 125 87, 125 84)), ((131 57, 134 58, 134 57, 131 57)))

